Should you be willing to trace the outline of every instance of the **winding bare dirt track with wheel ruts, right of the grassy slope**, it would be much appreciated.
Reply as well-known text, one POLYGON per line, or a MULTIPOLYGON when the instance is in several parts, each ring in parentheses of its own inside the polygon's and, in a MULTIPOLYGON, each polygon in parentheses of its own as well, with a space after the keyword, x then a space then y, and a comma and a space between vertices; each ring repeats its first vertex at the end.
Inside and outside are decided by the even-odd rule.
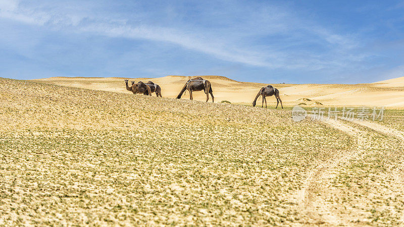
MULTIPOLYGON (((383 135, 393 136, 400 140, 401 152, 404 147, 403 133, 388 128, 377 123, 366 121, 350 121, 344 122, 342 120, 330 120, 325 119, 323 122, 335 129, 341 130, 344 133, 355 138, 357 141, 354 147, 347 149, 345 152, 339 154, 332 160, 319 163, 309 174, 309 177, 304 182, 302 190, 298 194, 299 206, 304 210, 306 224, 325 224, 325 225, 362 225, 353 222, 353 216, 361 216, 361 212, 358 210, 351 211, 349 213, 341 212, 335 205, 330 204, 327 201, 329 193, 327 191, 331 187, 330 182, 335 178, 335 172, 338 172, 338 168, 349 163, 352 159, 361 159, 361 156, 365 156, 369 152, 367 146, 367 140, 370 139, 369 131, 377 132, 383 135), (354 125, 352 125, 354 123, 354 125), (363 126, 365 128, 356 127, 356 125, 363 126), (356 213, 355 213, 356 212, 356 213)), ((399 161, 400 162, 400 161, 399 161)), ((394 178, 393 191, 395 193, 404 194, 404 168, 402 162, 396 166, 390 166, 391 173, 394 178)), ((401 208, 397 213, 397 223, 403 224, 404 210, 401 208)))

